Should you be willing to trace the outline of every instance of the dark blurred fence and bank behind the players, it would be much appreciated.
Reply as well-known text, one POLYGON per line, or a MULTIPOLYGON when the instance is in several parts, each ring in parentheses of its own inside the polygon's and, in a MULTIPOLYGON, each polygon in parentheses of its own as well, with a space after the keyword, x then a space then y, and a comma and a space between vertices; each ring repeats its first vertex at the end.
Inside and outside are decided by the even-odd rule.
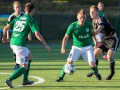
MULTIPOLYGON (((0 0, 0 14, 10 15, 14 12, 15 0, 0 0)), ((32 2, 36 7, 33 16, 40 28, 40 33, 47 42, 61 42, 67 27, 76 21, 76 12, 83 8, 87 13, 87 21, 91 22, 89 8, 104 3, 105 17, 111 22, 120 36, 120 0, 17 0, 21 3, 22 11, 27 2, 32 2)), ((0 19, 0 27, 5 26, 6 21, 0 19)), ((36 41, 34 34, 33 40, 36 41)))

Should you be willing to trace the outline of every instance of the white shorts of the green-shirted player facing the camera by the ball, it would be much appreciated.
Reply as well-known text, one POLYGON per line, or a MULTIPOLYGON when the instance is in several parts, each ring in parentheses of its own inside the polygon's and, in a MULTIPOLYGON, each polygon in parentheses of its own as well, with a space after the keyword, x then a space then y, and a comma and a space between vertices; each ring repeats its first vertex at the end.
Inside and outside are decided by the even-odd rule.
POLYGON ((82 56, 82 58, 88 63, 90 63, 91 61, 95 62, 95 56, 92 46, 86 46, 81 48, 72 46, 67 60, 72 60, 73 62, 75 62, 80 56, 82 56))

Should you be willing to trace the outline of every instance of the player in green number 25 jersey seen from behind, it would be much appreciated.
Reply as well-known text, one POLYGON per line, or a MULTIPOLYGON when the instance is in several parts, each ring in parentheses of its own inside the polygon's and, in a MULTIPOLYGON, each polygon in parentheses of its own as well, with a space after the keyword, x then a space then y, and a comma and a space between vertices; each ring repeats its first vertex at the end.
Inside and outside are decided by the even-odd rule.
MULTIPOLYGON (((15 18, 3 29, 2 42, 7 42, 6 34, 9 29, 13 29, 12 36, 10 39, 10 47, 16 53, 16 62, 21 65, 20 68, 15 70, 10 77, 5 81, 5 83, 10 87, 12 86, 12 81, 22 74, 24 78, 29 74, 29 68, 31 62, 28 60, 29 49, 26 47, 26 38, 30 31, 35 33, 36 38, 45 46, 45 48, 50 51, 50 47, 46 44, 43 37, 39 33, 39 27, 34 18, 32 18, 35 12, 35 6, 32 3, 27 3, 25 5, 25 14, 18 18, 15 18)), ((33 84, 30 82, 23 81, 22 85, 33 84)))

